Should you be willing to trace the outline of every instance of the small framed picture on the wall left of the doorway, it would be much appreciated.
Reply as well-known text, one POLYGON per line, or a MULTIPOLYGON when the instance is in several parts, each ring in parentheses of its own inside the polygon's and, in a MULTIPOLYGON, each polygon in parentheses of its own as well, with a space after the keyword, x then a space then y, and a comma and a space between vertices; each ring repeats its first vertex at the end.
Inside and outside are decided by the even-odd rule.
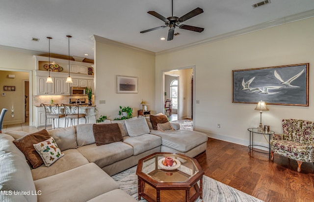
POLYGON ((138 77, 117 75, 117 93, 138 93, 138 77))

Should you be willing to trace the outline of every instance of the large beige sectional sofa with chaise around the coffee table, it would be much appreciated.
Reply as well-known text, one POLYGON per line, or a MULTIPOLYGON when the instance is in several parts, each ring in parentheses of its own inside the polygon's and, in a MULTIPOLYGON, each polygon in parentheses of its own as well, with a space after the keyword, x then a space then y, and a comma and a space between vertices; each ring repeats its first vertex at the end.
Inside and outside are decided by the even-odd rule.
POLYGON ((180 129, 178 124, 172 124, 171 131, 153 130, 149 117, 102 124, 111 123, 119 125, 123 141, 100 146, 95 144, 93 124, 48 130, 65 155, 50 167, 36 169, 12 142, 25 132, 0 134, 0 200, 133 202, 110 176, 154 152, 194 157, 206 150, 206 134, 180 129))

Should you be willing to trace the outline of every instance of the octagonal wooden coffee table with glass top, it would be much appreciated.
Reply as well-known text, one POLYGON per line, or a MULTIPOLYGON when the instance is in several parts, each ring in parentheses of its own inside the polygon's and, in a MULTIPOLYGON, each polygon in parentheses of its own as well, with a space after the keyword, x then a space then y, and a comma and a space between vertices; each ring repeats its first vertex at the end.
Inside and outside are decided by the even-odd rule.
POLYGON ((183 154, 157 152, 138 161, 138 200, 149 202, 194 202, 203 197, 204 171, 196 159, 183 154), (167 156, 176 159, 180 166, 167 170, 158 164, 167 156), (199 182, 199 185, 198 185, 199 182))

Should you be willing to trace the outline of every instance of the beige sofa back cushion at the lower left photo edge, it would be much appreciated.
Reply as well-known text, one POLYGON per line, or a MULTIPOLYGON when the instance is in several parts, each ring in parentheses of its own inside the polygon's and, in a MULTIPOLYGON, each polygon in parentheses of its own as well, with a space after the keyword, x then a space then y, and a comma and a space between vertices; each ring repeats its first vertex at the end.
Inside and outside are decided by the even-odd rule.
MULTIPOLYGON (((0 134, 0 191, 24 191, 36 193, 34 181, 26 158, 13 144, 13 137, 0 134)), ((37 196, 26 194, 21 197, 8 197, 5 200, 14 199, 22 201, 24 197, 28 202, 36 202, 37 196)))

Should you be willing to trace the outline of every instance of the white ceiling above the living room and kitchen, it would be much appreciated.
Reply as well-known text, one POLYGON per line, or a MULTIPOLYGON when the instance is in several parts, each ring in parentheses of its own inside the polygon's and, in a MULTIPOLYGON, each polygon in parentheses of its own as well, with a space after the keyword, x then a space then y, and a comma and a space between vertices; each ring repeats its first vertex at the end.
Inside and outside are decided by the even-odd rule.
POLYGON ((140 33, 164 25, 147 11, 170 17, 171 0, 0 0, 0 45, 48 52, 46 37, 51 36, 51 52, 68 55, 66 35, 72 35, 70 55, 94 59, 91 36, 98 35, 160 52, 314 9, 314 0, 270 0, 255 9, 252 4, 262 0, 173 1, 177 17, 202 8, 204 13, 183 24, 205 30, 198 33, 176 27, 180 35, 172 41, 160 40, 167 38, 168 27, 140 33))

